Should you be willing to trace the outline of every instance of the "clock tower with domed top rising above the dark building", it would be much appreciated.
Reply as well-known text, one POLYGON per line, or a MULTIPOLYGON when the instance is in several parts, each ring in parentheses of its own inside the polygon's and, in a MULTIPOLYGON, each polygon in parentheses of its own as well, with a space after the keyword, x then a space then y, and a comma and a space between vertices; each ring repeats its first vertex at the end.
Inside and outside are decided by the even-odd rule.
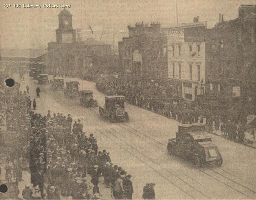
POLYGON ((65 8, 58 14, 58 29, 56 29, 57 43, 74 43, 75 29, 72 28, 72 14, 65 8))

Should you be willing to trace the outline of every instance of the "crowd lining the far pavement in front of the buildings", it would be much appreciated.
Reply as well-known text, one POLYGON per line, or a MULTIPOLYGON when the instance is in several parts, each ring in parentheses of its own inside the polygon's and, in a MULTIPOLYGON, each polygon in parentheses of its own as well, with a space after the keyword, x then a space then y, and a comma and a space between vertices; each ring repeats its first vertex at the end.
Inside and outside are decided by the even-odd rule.
MULTIPOLYGON (((207 130, 221 132, 237 142, 244 142, 245 123, 224 112, 212 112, 207 107, 186 103, 182 98, 168 96, 169 88, 155 81, 123 81, 111 75, 96 80, 96 88, 107 95, 124 95, 127 102, 154 111, 181 123, 205 123, 207 130)), ((253 132, 251 134, 254 134, 253 132)))

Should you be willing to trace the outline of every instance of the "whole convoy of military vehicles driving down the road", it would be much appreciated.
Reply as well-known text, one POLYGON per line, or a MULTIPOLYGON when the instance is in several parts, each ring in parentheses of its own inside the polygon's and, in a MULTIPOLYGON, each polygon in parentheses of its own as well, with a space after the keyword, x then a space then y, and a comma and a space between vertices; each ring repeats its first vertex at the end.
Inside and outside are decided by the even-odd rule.
MULTIPOLYGON (((34 75, 33 68, 29 75, 34 75)), ((38 75, 39 84, 47 84, 47 74, 38 75)), ((78 81, 67 81, 64 95, 68 98, 75 98, 79 94, 80 103, 85 107, 98 106, 93 99, 92 90, 78 90, 78 81)), ((62 77, 53 77, 51 87, 53 90, 63 88, 62 77)), ((129 120, 128 113, 124 111, 125 96, 110 95, 105 96, 105 104, 99 107, 100 116, 107 117, 110 122, 129 120)), ((222 156, 217 146, 211 142, 211 134, 205 131, 202 123, 181 124, 178 126, 176 138, 170 138, 167 144, 168 153, 179 156, 183 159, 192 160, 196 167, 204 164, 214 163, 220 166, 223 162, 222 156)))

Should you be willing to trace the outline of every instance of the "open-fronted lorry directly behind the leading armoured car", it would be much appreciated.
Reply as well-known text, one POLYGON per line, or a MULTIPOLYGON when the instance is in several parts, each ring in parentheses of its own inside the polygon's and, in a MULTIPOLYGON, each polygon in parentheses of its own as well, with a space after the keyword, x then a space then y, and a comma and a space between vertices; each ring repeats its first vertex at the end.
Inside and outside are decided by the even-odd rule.
POLYGON ((110 118, 110 122, 129 120, 128 113, 124 111, 125 96, 113 95, 105 96, 105 104, 99 106, 99 114, 110 118))

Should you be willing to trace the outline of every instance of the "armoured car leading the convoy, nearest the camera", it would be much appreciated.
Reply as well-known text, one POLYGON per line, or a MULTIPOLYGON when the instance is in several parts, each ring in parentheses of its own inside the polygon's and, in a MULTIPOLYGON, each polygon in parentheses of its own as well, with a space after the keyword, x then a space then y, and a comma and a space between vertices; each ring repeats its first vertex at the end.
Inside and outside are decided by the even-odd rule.
POLYGON ((182 124, 178 126, 176 138, 168 140, 167 150, 171 155, 191 159, 196 167, 208 163, 220 166, 222 156, 211 138, 201 123, 182 124))

